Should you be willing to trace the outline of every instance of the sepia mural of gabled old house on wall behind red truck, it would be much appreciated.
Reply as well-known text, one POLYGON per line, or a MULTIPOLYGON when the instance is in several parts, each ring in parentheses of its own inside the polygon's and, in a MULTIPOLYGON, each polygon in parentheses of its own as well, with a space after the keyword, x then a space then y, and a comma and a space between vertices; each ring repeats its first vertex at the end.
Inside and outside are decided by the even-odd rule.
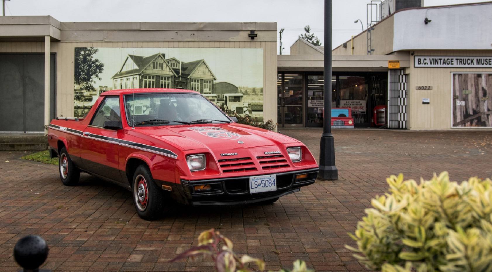
POLYGON ((177 88, 200 92, 228 114, 263 119, 261 48, 76 47, 74 116, 116 89, 177 88))

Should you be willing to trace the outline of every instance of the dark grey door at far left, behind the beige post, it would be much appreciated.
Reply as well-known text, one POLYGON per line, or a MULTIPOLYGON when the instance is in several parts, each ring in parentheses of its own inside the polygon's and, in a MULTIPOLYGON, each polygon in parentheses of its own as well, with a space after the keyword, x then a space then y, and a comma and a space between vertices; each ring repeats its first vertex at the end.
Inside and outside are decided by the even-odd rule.
MULTIPOLYGON (((50 118, 55 116, 51 55, 50 118)), ((0 54, 0 132, 44 132, 44 54, 0 54)))

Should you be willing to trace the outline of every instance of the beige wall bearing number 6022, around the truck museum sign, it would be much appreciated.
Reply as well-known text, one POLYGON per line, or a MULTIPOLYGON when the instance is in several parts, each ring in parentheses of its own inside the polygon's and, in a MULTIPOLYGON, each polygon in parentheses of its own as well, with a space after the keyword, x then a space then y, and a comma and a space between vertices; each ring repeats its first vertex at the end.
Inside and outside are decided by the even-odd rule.
MULTIPOLYGON (((415 56, 491 56, 490 50, 421 50, 412 51, 415 56)), ((492 68, 415 68, 410 58, 411 75, 407 83, 410 130, 451 129, 452 126, 452 73, 492 73, 492 68), (432 90, 416 90, 416 86, 432 86, 432 90), (422 104, 422 99, 430 104, 422 104)), ((490 128, 489 128, 490 129, 490 128)))

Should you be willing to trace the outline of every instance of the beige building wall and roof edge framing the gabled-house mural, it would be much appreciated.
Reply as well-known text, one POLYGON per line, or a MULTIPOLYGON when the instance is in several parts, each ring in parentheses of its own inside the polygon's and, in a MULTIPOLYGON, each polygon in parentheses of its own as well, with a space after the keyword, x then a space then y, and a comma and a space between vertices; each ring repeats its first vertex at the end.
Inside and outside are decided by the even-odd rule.
POLYGON ((44 42, 38 40, 55 34, 51 53, 56 53, 56 116, 73 116, 75 47, 263 48, 263 117, 277 120, 277 23, 73 23, 50 16, 12 18, 0 20, 0 29, 8 30, 9 36, 8 41, 0 39, 0 53, 44 53, 44 42), (248 36, 251 30, 257 34, 254 39, 248 36))

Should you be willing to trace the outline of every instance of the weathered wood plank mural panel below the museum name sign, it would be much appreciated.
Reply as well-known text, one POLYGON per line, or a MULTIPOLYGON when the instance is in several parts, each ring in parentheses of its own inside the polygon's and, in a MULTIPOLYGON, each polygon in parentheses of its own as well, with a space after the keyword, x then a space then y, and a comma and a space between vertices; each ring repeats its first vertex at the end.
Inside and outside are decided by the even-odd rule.
POLYGON ((492 127, 492 73, 453 73, 453 127, 492 127))

